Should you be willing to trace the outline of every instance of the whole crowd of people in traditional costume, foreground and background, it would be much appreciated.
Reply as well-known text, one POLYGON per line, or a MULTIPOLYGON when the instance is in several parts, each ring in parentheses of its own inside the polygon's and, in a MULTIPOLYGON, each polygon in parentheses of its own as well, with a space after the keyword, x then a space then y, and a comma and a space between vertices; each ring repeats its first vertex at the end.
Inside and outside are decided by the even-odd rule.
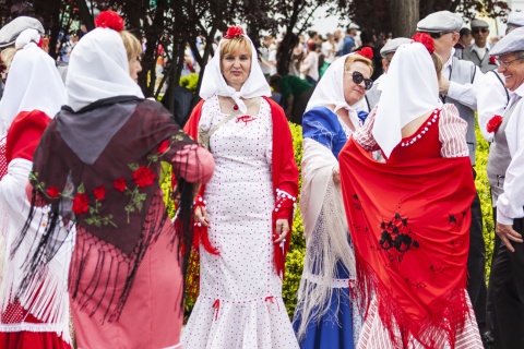
POLYGON ((37 20, 0 29, 0 347, 524 347, 524 15, 493 46, 487 22, 465 28, 448 11, 381 46, 366 31, 358 43, 355 23, 310 33, 285 76, 272 37, 261 52, 233 26, 184 125, 144 98, 143 45, 123 20, 95 23, 64 79, 37 20), (306 255, 290 320, 296 209, 306 255))

